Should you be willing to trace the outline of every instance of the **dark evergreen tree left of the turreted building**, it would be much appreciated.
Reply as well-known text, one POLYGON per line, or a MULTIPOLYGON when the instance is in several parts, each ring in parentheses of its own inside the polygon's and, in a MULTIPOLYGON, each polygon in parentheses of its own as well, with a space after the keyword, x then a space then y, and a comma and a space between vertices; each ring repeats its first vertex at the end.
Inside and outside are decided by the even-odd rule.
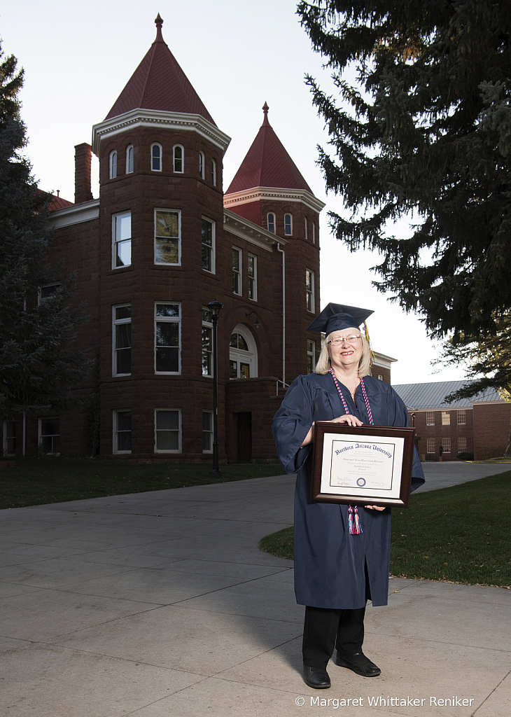
POLYGON ((13 410, 62 409, 90 369, 83 351, 72 351, 83 307, 70 308, 74 281, 60 280, 47 250, 49 197, 37 189, 19 152, 27 145, 19 117, 23 70, 0 46, 0 415, 13 410), (47 298, 40 288, 59 288, 47 298))

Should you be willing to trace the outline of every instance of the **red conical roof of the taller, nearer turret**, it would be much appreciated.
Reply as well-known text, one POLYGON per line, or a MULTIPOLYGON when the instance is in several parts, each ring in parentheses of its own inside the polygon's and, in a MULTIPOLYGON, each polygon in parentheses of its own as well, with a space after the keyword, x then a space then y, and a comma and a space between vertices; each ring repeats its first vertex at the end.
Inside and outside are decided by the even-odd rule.
POLYGON ((163 40, 163 20, 159 13, 154 22, 157 28, 156 40, 131 75, 105 120, 140 108, 201 115, 215 124, 163 40))

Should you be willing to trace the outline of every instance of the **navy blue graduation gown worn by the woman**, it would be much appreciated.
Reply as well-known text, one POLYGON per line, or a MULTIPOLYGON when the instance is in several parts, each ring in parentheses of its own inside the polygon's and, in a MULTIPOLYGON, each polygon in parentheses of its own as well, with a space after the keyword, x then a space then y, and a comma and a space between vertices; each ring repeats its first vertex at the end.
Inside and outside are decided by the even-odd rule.
MULTIPOLYGON (((408 426, 406 407, 389 384, 364 376, 373 422, 379 426, 408 426)), ((369 423, 360 386, 355 403, 340 384, 350 413, 369 423)), ((273 420, 273 435, 286 473, 297 472, 295 489, 295 594, 298 604, 357 609, 366 604, 364 565, 371 601, 386 605, 391 551, 391 508, 358 507, 363 533, 350 535, 348 505, 310 502, 312 444, 300 449, 313 421, 330 421, 345 410, 332 376, 310 374, 292 382, 273 420)), ((424 483, 415 450, 411 489, 424 483)))

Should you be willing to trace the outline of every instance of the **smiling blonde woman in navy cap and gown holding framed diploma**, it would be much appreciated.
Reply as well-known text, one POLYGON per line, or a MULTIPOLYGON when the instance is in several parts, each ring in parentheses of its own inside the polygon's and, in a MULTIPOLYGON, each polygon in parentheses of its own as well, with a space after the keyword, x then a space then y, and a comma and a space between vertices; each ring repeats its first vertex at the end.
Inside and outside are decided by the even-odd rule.
MULTIPOLYGON (((370 348, 358 327, 371 313, 330 303, 315 318, 308 330, 327 334, 316 372, 292 382, 273 422, 280 461, 287 473, 297 471, 295 594, 306 606, 304 678, 316 689, 330 687, 326 667, 334 647, 337 665, 364 677, 381 673, 362 652, 363 619, 368 599, 387 604, 391 509, 310 502, 315 421, 409 424, 396 391, 368 375, 370 348)), ((412 490, 422 483, 415 451, 412 490)))

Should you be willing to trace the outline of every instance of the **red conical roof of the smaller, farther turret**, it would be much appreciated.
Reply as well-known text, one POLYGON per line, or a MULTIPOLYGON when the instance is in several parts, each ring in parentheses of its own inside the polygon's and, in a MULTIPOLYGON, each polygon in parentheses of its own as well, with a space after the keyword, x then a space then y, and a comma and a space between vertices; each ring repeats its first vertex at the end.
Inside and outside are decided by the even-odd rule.
POLYGON ((262 110, 264 120, 261 128, 226 194, 234 194, 234 192, 253 189, 257 186, 305 189, 312 194, 309 185, 300 174, 300 170, 268 122, 269 107, 267 103, 264 103, 262 110))

